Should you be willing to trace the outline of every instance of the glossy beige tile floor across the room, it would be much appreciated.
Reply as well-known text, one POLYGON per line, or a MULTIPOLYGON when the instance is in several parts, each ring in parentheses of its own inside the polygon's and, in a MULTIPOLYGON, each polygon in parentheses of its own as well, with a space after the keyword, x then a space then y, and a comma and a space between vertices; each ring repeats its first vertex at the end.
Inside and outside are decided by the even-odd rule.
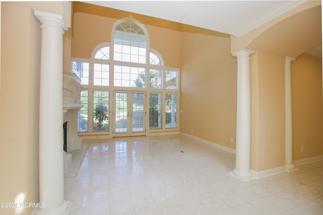
POLYGON ((185 136, 92 141, 65 179, 70 214, 323 214, 323 161, 241 182, 235 155, 185 136))

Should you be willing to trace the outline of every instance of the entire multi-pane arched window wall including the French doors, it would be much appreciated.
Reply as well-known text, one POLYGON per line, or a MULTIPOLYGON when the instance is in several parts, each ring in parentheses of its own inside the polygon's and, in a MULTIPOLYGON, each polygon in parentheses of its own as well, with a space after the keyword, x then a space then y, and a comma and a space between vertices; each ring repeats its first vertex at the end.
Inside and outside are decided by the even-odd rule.
POLYGON ((96 46, 90 59, 72 59, 72 73, 85 87, 79 132, 115 136, 129 127, 141 135, 152 129, 178 130, 179 69, 166 67, 149 47, 140 22, 118 20, 112 42, 96 46))

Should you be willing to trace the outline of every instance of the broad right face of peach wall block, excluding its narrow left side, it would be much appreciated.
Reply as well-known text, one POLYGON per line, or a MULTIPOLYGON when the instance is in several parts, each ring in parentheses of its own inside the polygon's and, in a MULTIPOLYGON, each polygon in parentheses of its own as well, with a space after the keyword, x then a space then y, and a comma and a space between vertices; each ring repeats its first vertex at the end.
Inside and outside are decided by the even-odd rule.
POLYGON ((258 171, 285 165, 285 57, 258 52, 258 171))

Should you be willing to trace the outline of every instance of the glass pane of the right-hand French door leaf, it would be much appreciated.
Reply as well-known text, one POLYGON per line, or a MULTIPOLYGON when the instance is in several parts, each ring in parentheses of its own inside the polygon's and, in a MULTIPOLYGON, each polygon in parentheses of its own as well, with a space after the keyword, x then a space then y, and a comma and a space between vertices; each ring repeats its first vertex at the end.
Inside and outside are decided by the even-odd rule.
POLYGON ((132 131, 142 132, 144 129, 144 94, 132 94, 132 131))

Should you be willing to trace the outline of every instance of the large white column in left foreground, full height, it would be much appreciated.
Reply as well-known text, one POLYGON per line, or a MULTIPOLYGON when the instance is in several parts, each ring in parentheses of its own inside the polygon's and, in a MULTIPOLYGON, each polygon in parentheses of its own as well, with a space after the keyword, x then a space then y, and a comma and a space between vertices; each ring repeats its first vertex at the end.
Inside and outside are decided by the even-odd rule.
POLYGON ((39 202, 36 214, 68 214, 63 164, 63 16, 34 11, 41 23, 39 98, 39 202))

